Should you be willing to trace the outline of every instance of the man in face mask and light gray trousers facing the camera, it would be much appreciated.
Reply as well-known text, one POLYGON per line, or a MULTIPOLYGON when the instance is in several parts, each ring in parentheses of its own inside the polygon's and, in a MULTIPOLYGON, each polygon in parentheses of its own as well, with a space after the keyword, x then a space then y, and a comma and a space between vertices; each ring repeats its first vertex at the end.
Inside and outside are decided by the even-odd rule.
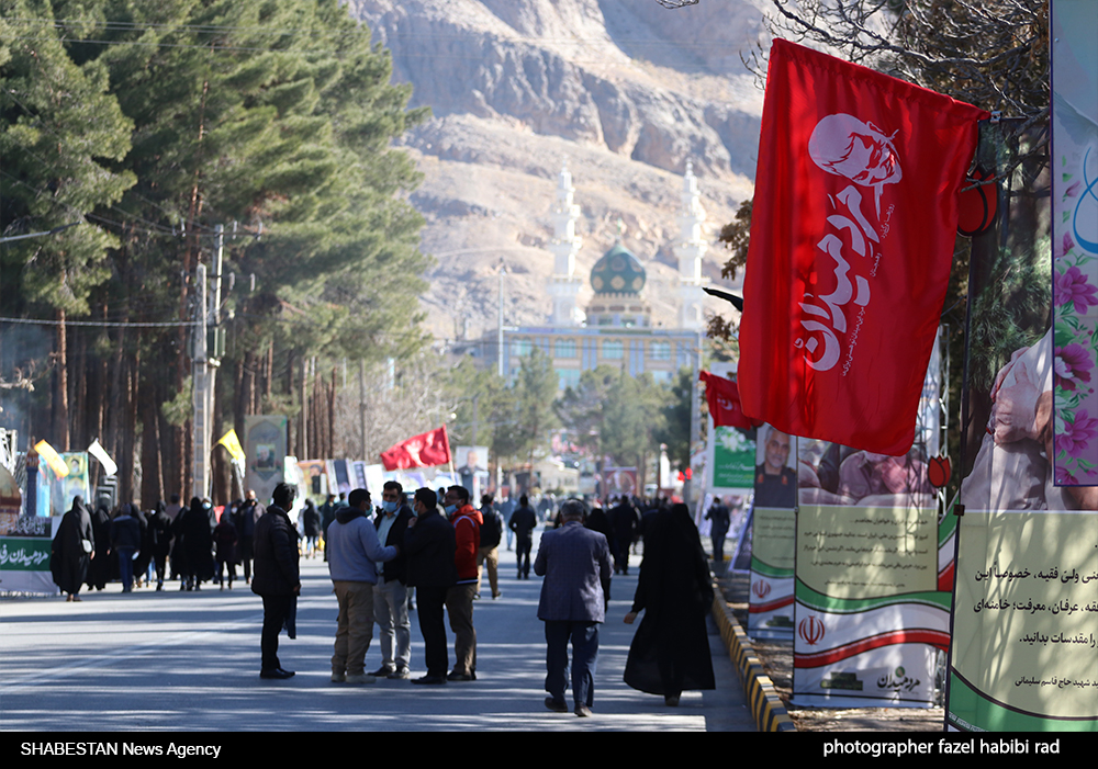
MULTIPOLYGON (((404 487, 386 480, 381 491, 381 508, 373 519, 378 539, 385 546, 404 550, 404 532, 412 519, 404 504, 404 487)), ((381 633, 381 667, 374 676, 407 678, 412 660, 412 623, 408 620, 407 557, 402 552, 389 563, 378 564, 378 584, 373 586, 373 619, 381 633)))

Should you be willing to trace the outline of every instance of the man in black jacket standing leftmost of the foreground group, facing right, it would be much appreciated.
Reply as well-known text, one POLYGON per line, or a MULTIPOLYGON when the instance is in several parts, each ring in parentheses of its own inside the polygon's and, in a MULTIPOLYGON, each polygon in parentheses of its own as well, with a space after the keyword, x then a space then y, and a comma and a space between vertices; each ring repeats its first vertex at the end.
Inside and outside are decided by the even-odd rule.
POLYGON ((267 508, 267 512, 256 523, 251 591, 264 599, 260 678, 282 679, 293 676, 292 671, 284 670, 279 663, 278 634, 288 620, 292 626, 298 596, 301 595, 298 532, 287 514, 287 510, 293 507, 294 495, 293 487, 288 484, 276 486, 272 495, 274 504, 267 508))

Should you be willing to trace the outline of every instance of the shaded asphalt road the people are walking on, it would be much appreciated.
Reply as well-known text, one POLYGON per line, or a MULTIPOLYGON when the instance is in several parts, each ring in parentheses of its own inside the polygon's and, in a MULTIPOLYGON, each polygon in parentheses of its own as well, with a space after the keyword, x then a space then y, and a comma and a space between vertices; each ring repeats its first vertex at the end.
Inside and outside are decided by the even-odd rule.
MULTIPOLYGON (((535 552, 537 544, 535 543, 535 552)), ((348 687, 328 680, 336 601, 326 565, 302 561, 298 637, 279 656, 296 676, 259 678, 262 603, 243 584, 180 592, 117 584, 83 601, 0 600, 0 730, 16 732, 276 731, 753 731, 716 630, 710 647, 717 690, 684 692, 679 708, 621 680, 637 625, 629 610, 640 557, 615 577, 601 629, 594 717, 546 710, 545 635, 537 619, 540 578, 515 578, 501 551, 498 600, 477 601, 478 680, 418 687, 381 679, 348 687)), ((486 578, 484 595, 489 595, 486 578)), ((712 624, 712 621, 710 621, 712 624)), ((450 663, 452 665, 452 634, 450 663)), ((367 670, 381 663, 377 640, 367 670)), ((412 674, 423 675, 423 642, 412 617, 412 674)))

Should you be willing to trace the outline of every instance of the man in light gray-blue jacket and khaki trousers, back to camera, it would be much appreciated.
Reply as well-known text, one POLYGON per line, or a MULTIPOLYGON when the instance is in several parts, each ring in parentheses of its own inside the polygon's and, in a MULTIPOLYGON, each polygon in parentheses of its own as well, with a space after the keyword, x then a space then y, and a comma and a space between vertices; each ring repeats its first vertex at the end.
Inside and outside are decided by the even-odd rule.
POLYGON ((339 602, 335 652, 332 655, 333 683, 373 683, 366 672, 366 652, 373 640, 373 586, 379 562, 400 554, 396 545, 383 547, 370 520, 370 493, 357 488, 346 507, 336 508, 325 535, 328 574, 339 602))

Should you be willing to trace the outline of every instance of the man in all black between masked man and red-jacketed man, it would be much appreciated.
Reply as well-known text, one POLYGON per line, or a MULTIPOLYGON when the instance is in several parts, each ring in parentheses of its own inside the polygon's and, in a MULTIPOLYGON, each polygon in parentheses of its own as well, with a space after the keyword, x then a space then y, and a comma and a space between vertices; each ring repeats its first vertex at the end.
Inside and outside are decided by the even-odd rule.
POLYGON ((438 497, 429 488, 415 493, 413 510, 404 532, 404 554, 407 556, 407 584, 416 589, 419 607, 419 632, 423 634, 427 675, 413 683, 446 683, 449 657, 446 649, 444 607, 446 591, 458 581, 453 564, 457 540, 453 527, 438 512, 438 497))

